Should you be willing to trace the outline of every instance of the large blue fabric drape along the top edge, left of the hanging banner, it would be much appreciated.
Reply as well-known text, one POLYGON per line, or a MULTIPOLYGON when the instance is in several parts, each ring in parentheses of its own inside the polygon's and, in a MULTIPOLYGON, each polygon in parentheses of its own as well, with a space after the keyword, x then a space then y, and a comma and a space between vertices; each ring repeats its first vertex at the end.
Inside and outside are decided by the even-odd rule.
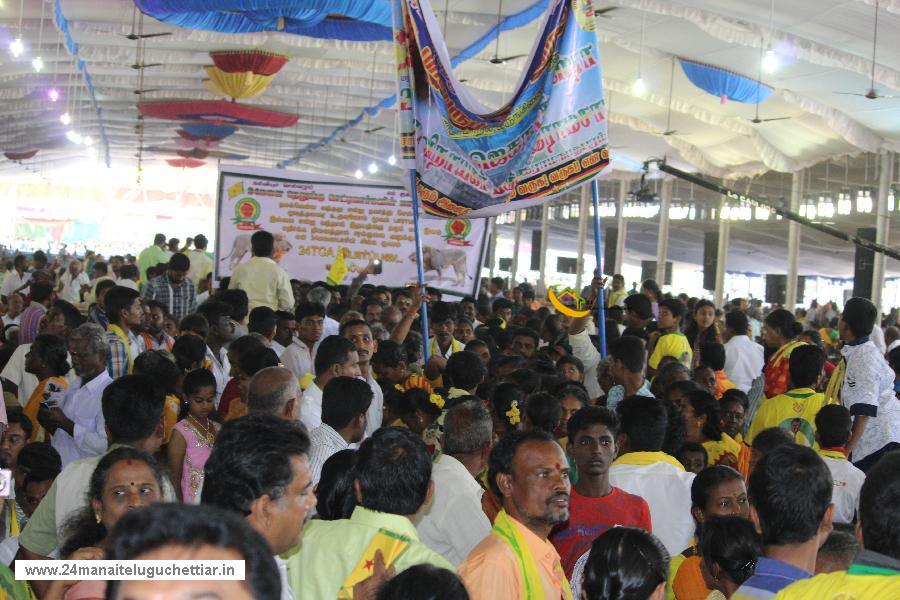
POLYGON ((135 0, 146 15, 186 29, 222 33, 283 31, 309 37, 388 41, 384 0, 135 0))

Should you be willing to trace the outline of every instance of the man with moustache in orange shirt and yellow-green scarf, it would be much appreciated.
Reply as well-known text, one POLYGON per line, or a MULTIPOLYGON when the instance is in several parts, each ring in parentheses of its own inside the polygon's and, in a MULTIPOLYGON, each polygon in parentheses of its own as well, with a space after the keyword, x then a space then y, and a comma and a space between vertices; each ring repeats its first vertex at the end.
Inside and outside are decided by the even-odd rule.
POLYGON ((569 466, 544 431, 513 431, 494 446, 488 483, 503 510, 491 535, 459 567, 473 598, 571 599, 559 554, 547 541, 569 518, 569 466))

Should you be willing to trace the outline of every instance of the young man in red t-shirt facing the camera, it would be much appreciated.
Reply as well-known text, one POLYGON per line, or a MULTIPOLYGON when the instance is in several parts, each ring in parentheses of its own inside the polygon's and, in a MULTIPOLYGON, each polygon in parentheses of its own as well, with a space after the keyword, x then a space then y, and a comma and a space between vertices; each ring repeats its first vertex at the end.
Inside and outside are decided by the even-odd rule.
POLYGON ((578 483, 572 486, 569 520, 550 534, 566 577, 572 576, 575 563, 607 529, 622 526, 651 530, 647 502, 609 484, 618 429, 616 414, 604 407, 587 406, 569 419, 566 453, 578 469, 578 483))

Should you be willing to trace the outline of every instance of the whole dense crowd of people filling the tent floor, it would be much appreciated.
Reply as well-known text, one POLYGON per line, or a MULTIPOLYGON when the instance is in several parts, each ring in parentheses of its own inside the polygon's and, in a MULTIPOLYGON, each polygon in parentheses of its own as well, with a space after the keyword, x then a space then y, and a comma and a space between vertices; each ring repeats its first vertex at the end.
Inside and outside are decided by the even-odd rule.
POLYGON ((206 244, 12 259, 0 593, 900 598, 900 331, 869 300, 717 307, 614 275, 572 317, 500 278, 291 278, 265 231, 214 283, 206 244), (188 558, 246 580, 10 570, 188 558))

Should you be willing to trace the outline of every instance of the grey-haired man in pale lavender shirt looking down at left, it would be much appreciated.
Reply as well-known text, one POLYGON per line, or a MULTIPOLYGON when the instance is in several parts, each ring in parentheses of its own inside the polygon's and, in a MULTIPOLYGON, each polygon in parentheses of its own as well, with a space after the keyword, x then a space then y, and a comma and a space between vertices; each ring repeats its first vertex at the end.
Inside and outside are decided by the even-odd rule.
POLYGON ((106 423, 100 399, 112 378, 106 372, 109 345, 106 332, 94 323, 80 325, 69 334, 69 354, 78 379, 69 386, 59 406, 41 407, 38 422, 53 435, 51 442, 62 466, 106 452, 106 423))

